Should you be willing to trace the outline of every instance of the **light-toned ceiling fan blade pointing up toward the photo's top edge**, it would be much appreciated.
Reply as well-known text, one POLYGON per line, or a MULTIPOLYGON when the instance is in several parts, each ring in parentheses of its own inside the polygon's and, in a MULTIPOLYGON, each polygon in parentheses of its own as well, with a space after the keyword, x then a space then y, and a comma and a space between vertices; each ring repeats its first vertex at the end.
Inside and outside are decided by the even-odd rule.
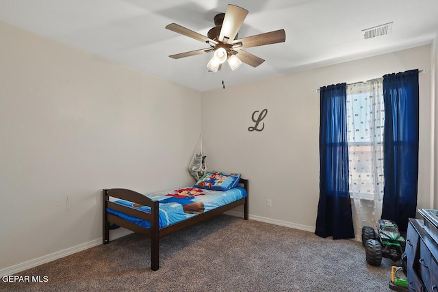
POLYGON ((225 12, 222 29, 220 29, 219 40, 224 44, 231 44, 247 14, 248 10, 229 4, 225 12))

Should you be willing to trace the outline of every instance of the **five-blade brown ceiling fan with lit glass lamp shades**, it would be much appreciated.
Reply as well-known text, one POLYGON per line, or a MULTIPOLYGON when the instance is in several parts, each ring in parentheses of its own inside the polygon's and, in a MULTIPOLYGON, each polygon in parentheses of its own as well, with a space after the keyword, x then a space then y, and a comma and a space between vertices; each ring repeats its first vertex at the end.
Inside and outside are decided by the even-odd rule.
POLYGON ((218 72, 225 61, 228 61, 231 70, 235 70, 242 64, 242 62, 253 67, 259 66, 265 60, 248 53, 243 49, 284 42, 286 40, 285 30, 279 29, 264 34, 236 39, 237 32, 242 26, 247 14, 248 10, 229 4, 225 13, 220 13, 214 16, 214 25, 216 26, 208 31, 207 36, 198 34, 197 32, 182 27, 181 25, 177 25, 176 23, 170 23, 170 25, 166 26, 166 29, 175 31, 178 34, 183 34, 189 38, 194 38, 195 40, 200 40, 201 42, 206 42, 209 44, 209 47, 206 49, 170 55, 169 57, 179 59, 214 51, 213 57, 211 57, 207 64, 207 68, 212 72, 218 72))

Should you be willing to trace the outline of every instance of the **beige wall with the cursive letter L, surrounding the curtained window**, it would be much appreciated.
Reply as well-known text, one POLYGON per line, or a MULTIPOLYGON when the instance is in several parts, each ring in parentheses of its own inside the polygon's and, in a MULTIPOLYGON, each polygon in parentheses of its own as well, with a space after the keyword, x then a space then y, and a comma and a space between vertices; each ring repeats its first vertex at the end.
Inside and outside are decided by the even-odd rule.
MULTIPOLYGON (((253 219, 313 231, 320 170, 320 101, 314 90, 414 68, 430 68, 429 45, 206 92, 202 131, 209 168, 249 178, 253 219), (253 112, 263 109, 264 130, 248 131, 253 112)), ((420 74, 418 207, 430 206, 430 102, 426 71, 420 74)))

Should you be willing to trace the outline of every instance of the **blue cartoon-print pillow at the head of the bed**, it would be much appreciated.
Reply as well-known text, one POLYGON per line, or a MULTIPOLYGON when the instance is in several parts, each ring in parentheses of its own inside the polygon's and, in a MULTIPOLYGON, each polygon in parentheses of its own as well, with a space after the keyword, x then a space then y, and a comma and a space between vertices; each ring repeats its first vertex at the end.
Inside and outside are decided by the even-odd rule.
POLYGON ((240 174, 228 174, 227 172, 207 172, 199 178, 194 187, 201 189, 214 189, 216 191, 227 191, 237 186, 240 181, 240 174))

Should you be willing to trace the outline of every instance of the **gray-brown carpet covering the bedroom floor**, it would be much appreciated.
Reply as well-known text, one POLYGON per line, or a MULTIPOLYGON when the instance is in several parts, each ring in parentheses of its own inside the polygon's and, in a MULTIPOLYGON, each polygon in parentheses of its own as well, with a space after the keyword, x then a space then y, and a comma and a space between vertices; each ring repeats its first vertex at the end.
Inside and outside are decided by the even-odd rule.
POLYGON ((365 261, 360 242, 228 215, 161 240, 128 235, 17 275, 48 282, 4 283, 0 291, 391 291, 391 265, 365 261))

